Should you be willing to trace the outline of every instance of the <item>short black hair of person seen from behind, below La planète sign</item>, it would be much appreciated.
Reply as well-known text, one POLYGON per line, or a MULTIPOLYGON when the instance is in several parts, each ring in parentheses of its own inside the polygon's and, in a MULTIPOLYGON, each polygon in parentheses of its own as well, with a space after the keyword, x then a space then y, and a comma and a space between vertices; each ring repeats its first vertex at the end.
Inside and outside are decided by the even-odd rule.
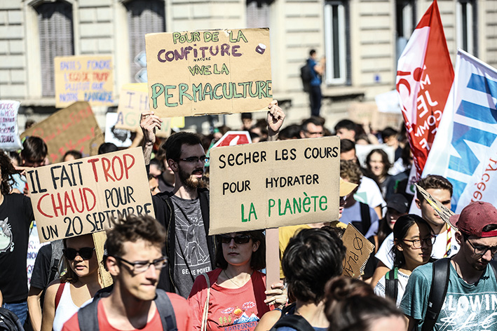
POLYGON ((290 239, 281 262, 288 291, 301 302, 321 302, 327 281, 342 272, 345 252, 341 238, 330 227, 299 231, 290 239))

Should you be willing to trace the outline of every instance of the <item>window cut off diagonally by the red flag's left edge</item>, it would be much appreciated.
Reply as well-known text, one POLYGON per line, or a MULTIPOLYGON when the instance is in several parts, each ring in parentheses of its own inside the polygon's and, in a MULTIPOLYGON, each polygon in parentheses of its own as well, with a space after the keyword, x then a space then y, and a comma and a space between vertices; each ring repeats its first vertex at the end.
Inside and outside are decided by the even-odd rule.
POLYGON ((395 1, 395 53, 398 62, 404 47, 416 28, 416 2, 414 0, 395 1))

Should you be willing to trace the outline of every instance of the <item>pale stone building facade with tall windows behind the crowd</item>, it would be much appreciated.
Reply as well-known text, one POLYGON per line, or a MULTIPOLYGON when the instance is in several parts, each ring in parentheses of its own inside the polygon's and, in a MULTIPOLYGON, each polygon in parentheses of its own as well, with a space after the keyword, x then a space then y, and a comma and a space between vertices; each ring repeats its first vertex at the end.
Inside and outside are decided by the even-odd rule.
MULTIPOLYGON (((0 99, 22 102, 22 131, 28 116, 39 120, 55 111, 55 56, 112 55, 118 97, 123 84, 144 79, 135 58, 146 33, 269 27, 273 95, 288 123, 310 114, 300 67, 315 49, 326 58, 322 116, 332 127, 350 102, 374 102, 395 88, 397 58, 431 2, 0 0, 0 99)), ((439 0, 438 6, 454 65, 463 48, 497 66, 497 0, 439 0)), ((103 126, 113 109, 94 110, 103 126)), ((224 120, 233 128, 240 123, 236 115, 224 120)))

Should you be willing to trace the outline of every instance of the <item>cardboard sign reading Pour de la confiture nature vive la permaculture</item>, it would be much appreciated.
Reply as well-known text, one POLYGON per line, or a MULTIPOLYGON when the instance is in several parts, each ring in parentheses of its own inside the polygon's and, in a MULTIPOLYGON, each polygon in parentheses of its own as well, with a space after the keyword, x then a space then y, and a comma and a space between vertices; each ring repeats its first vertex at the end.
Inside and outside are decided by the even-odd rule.
POLYGON ((267 110, 269 29, 146 34, 151 109, 160 117, 267 110))

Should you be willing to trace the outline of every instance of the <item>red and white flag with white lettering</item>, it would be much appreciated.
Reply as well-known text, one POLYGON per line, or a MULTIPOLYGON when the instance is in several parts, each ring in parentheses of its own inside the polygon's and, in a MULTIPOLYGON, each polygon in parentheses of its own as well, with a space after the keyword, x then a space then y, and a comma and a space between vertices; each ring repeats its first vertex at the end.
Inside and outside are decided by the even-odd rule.
MULTIPOLYGON (((454 81, 437 0, 421 18, 397 64, 397 93, 421 177, 454 81)), ((411 171, 411 174, 413 172, 411 171)))

